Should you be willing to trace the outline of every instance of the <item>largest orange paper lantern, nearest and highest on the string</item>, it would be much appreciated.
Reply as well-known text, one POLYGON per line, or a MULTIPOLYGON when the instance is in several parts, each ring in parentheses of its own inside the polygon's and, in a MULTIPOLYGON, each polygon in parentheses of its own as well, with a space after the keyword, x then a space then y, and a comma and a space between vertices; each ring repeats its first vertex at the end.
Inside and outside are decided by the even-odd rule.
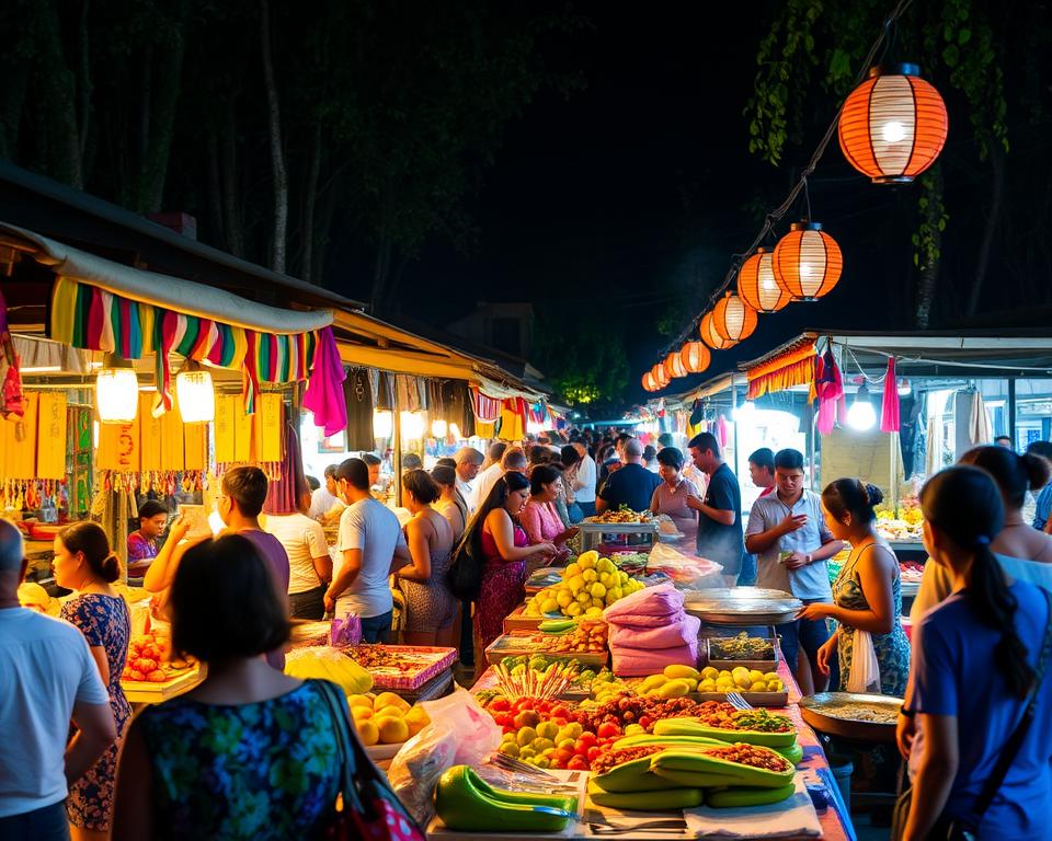
POLYGON ((913 181, 942 151, 949 118, 916 65, 874 67, 841 112, 844 157, 876 184, 913 181))

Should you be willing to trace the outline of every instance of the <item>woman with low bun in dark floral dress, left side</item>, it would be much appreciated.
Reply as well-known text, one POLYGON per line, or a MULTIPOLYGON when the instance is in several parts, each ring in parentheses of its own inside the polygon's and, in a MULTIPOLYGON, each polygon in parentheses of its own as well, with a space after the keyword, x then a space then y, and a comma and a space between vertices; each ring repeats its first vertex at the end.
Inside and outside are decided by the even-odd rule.
POLYGON ((110 693, 117 740, 77 783, 69 787, 66 810, 70 834, 79 839, 110 837, 117 752, 132 707, 121 689, 121 672, 128 655, 132 617, 113 588, 121 577, 121 561, 110 550, 106 532, 96 522, 75 522, 55 538, 55 581, 75 591, 62 606, 62 619, 88 640, 110 693))

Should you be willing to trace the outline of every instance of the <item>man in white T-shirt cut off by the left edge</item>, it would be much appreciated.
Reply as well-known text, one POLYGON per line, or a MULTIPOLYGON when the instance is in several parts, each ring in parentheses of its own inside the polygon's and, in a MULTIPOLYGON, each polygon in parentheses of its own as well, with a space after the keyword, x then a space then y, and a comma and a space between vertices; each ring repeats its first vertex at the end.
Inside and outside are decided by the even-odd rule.
POLYGON ((67 786, 117 738, 80 631, 19 604, 22 535, 0 519, 0 839, 69 839, 67 786), (79 733, 67 750, 72 719, 79 733))

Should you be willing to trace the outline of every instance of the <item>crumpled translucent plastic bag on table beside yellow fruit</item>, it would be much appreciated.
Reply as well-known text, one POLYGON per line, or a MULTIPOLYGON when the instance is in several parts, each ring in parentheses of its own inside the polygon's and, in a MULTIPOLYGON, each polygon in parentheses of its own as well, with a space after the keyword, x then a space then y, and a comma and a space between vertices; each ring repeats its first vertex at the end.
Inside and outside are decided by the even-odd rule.
POLYGON ((460 688, 421 706, 431 724, 395 754, 387 779, 413 818, 426 827, 435 814, 438 777, 454 765, 480 765, 500 747, 503 733, 474 695, 460 688))

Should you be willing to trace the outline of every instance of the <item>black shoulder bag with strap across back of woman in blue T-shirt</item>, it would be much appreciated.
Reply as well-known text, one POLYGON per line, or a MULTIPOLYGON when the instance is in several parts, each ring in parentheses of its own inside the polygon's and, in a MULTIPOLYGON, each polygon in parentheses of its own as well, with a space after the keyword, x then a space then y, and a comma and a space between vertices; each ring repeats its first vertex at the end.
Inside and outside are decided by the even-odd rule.
MULTIPOLYGON (((1041 689, 1045 668, 1049 664, 1050 652, 1052 652, 1052 595, 1044 589, 1042 589, 1041 592, 1044 594, 1044 600, 1049 606, 1049 622, 1044 629, 1044 642, 1041 646, 1041 655, 1038 657, 1038 668, 1033 676, 1033 686, 1030 687, 1030 692, 1027 696, 1027 706, 1022 711, 1022 718, 1019 719, 1016 729, 1011 736, 1008 737, 1008 741, 1005 742, 1004 749, 997 757, 997 764, 994 765, 993 772, 986 777, 983 790, 975 800, 975 808, 972 811, 971 819, 964 820, 962 818, 942 816, 936 821, 935 827, 928 833, 929 839, 935 839, 936 841, 975 841, 979 838, 979 826, 983 822, 983 816, 986 814, 986 809, 990 808, 990 804, 994 802, 997 790, 1000 788, 1005 782, 1005 777, 1008 775, 1008 769, 1011 768, 1011 763, 1016 761, 1016 757, 1019 754, 1019 748, 1022 747, 1022 742, 1027 738, 1027 733, 1037 713, 1038 691, 1041 689)), ((910 817, 912 802, 913 788, 910 788, 903 792, 895 803, 891 832, 894 841, 899 841, 905 833, 906 819, 910 817)))

